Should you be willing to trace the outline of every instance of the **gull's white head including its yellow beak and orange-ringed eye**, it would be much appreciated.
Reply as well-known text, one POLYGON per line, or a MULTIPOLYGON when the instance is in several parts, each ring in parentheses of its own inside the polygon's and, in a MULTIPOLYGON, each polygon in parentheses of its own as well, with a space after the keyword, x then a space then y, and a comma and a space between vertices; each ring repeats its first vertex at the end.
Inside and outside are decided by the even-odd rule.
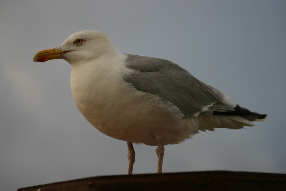
POLYGON ((64 59, 72 65, 117 53, 114 44, 102 32, 79 31, 69 36, 59 47, 38 52, 33 61, 64 59))

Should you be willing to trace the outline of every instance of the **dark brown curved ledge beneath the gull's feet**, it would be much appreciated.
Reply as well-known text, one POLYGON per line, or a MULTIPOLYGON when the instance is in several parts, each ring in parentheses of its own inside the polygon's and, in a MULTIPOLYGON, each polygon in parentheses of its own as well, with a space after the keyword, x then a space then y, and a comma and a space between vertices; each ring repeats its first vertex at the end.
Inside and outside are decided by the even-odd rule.
POLYGON ((96 176, 18 189, 18 191, 91 190, 286 190, 286 174, 203 171, 96 176))

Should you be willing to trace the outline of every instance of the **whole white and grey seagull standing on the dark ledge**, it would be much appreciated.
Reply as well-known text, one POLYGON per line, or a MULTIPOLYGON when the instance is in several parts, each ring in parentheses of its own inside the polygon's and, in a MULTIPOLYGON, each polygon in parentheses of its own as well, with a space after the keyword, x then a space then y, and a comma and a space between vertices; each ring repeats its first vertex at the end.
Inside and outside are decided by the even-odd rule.
POLYGON ((199 131, 241 129, 266 120, 266 114, 233 104, 227 94, 173 62, 119 53, 99 31, 72 34, 33 61, 52 59, 71 65, 72 96, 86 120, 105 135, 127 141, 128 174, 135 161, 133 143, 157 146, 157 173, 162 173, 164 145, 199 131))

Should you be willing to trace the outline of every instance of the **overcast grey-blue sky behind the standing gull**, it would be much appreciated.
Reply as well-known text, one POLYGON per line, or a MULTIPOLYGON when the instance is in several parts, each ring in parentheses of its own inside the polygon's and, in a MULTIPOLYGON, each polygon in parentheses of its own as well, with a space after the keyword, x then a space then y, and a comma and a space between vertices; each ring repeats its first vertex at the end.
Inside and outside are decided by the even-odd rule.
MULTIPOLYGON (((76 108, 70 65, 32 62, 81 30, 119 52, 175 62, 233 102, 266 113, 240 130, 201 132, 165 147, 163 172, 286 173, 286 1, 42 1, 0 3, 0 185, 3 190, 127 173, 127 145, 76 108)), ((155 173, 156 147, 135 145, 134 173, 155 173)))

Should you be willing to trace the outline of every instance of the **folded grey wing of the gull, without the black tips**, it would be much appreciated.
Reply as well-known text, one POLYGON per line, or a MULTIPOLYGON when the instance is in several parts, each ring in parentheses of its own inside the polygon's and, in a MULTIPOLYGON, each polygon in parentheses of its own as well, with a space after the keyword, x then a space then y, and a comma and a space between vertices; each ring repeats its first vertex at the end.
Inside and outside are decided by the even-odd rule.
MULTIPOLYGON (((126 54, 126 67, 136 70, 124 80, 137 90, 158 95, 176 105, 186 117, 198 115, 225 95, 197 80, 177 64, 160 58, 126 54)), ((208 115, 208 113, 205 113, 208 115)))

